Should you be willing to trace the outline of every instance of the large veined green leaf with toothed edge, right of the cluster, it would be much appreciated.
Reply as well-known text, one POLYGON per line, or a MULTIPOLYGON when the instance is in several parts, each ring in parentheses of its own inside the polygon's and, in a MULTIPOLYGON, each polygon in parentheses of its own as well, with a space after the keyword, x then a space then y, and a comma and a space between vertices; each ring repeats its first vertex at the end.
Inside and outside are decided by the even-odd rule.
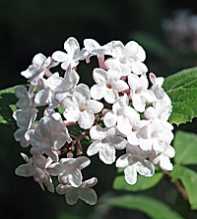
POLYGON ((164 89, 172 100, 171 123, 180 125, 197 117, 197 68, 186 69, 167 77, 164 89))

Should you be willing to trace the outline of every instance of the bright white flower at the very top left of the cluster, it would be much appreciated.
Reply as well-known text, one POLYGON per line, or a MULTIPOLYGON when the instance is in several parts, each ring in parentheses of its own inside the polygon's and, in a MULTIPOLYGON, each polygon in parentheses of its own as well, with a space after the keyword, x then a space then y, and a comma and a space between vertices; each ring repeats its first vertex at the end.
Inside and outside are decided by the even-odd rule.
POLYGON ((56 51, 53 53, 52 58, 56 62, 60 62, 62 69, 67 70, 69 66, 72 68, 79 64, 83 58, 83 53, 80 51, 78 41, 74 37, 68 38, 64 43, 65 52, 56 51))

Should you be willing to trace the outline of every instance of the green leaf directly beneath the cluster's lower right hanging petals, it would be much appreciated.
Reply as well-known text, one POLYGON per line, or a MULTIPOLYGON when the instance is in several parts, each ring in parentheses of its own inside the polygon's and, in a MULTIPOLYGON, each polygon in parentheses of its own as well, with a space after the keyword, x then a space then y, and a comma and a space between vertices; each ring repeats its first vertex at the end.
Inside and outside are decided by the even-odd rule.
POLYGON ((156 173, 152 177, 138 176, 137 183, 134 185, 129 185, 125 181, 124 176, 118 176, 115 178, 113 187, 117 190, 127 190, 132 192, 142 191, 155 186, 157 183, 159 183, 162 177, 163 173, 156 173))

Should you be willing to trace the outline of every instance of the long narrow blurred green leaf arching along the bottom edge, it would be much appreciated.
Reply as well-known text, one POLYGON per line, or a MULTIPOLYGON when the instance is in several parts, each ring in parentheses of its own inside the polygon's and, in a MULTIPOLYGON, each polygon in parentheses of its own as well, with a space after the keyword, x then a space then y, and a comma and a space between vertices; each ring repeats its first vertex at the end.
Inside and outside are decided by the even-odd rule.
POLYGON ((126 195, 111 198, 106 202, 110 206, 142 211, 152 219, 183 219, 170 207, 150 197, 126 195))

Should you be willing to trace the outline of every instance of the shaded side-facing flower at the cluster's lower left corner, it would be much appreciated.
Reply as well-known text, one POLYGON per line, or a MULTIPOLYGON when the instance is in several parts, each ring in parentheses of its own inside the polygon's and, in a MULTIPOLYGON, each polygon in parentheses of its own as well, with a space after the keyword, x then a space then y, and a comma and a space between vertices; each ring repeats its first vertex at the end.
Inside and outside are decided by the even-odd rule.
POLYGON ((23 177, 32 176, 43 190, 45 190, 46 187, 49 192, 54 192, 52 179, 47 172, 47 168, 52 163, 52 160, 42 155, 34 155, 29 159, 25 154, 22 154, 22 157, 27 163, 18 166, 15 170, 15 174, 23 177))

